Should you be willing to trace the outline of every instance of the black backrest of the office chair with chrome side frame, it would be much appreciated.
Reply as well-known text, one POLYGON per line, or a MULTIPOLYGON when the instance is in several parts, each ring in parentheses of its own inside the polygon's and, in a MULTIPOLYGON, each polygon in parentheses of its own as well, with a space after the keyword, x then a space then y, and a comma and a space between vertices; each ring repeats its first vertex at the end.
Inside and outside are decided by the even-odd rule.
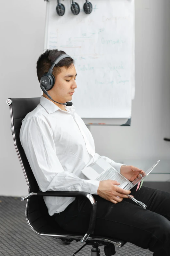
MULTIPOLYGON (((40 103, 39 98, 8 98, 7 104, 10 107, 11 130, 13 131, 14 145, 28 183, 29 192, 38 192, 39 187, 27 160, 25 152, 20 142, 20 129, 22 120, 27 113, 33 111, 40 103)), ((28 199, 26 207, 26 218, 28 224, 34 231, 40 233, 62 233, 63 230, 58 226, 48 214, 43 197, 32 196, 28 199), (55 229, 54 229, 55 228, 55 229)))

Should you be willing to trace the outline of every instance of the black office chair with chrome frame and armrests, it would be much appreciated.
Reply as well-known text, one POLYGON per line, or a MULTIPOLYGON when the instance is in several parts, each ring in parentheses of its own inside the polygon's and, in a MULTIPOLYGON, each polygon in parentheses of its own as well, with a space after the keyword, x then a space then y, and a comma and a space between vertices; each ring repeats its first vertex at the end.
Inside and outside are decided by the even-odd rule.
POLYGON ((81 191, 39 191, 38 184, 20 142, 21 121, 26 114, 33 111, 39 103, 40 97, 7 99, 7 104, 9 105, 10 110, 11 132, 13 135, 14 145, 28 185, 28 195, 21 197, 21 201, 27 199, 25 210, 27 223, 36 234, 50 236, 52 238, 59 238, 65 244, 69 244, 73 240, 77 242, 80 241, 81 243, 86 242, 73 254, 73 256, 86 245, 92 246, 91 256, 100 256, 100 249, 98 248, 99 246, 104 246, 106 256, 115 255, 115 247, 120 248, 126 242, 120 239, 103 237, 93 233, 95 227, 97 202, 95 202, 95 199, 91 194, 81 191), (70 231, 68 232, 60 228, 53 216, 49 215, 43 196, 84 196, 88 198, 92 204, 92 212, 86 234, 70 231))

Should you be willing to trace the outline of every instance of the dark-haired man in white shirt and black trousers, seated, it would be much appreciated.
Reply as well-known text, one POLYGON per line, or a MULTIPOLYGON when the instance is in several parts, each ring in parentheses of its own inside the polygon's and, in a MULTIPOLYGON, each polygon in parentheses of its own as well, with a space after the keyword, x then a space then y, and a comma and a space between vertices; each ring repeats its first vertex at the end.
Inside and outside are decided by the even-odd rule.
MULTIPOLYGON (((63 51, 47 50, 37 60, 38 80, 63 51)), ((54 101, 72 100, 77 88, 74 60, 65 58, 53 69, 54 86, 48 91, 54 101)), ((142 186, 137 192, 121 189, 114 180, 88 180, 82 169, 103 157, 130 181, 143 173, 134 166, 116 163, 95 152, 91 132, 75 107, 54 102, 43 93, 40 104, 22 120, 21 145, 40 190, 86 191, 97 201, 94 233, 116 237, 154 256, 170 256, 170 193, 142 186), (147 205, 144 209, 127 195, 147 205)), ((44 197, 49 214, 68 231, 87 231, 91 204, 80 197, 44 197)))

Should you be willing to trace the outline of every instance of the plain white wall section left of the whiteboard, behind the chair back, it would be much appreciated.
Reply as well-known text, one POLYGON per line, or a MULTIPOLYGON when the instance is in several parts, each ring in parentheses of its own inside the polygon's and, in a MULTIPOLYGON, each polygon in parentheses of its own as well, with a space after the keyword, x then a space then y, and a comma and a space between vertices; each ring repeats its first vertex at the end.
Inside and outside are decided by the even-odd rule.
POLYGON ((1 151, 0 195, 27 194, 10 130, 7 98, 40 97, 36 61, 44 49, 46 2, 7 0, 1 3, 1 151), (3 72, 2 72, 3 71, 3 72))

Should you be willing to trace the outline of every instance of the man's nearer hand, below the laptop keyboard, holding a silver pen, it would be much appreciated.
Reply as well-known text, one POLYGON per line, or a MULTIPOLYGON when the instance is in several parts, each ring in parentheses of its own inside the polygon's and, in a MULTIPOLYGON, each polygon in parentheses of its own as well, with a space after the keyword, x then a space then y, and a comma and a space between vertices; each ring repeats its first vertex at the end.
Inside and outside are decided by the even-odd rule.
POLYGON ((127 195, 130 194, 131 191, 122 189, 118 187, 118 185, 120 185, 120 182, 116 180, 101 180, 97 190, 97 195, 105 198, 106 200, 114 204, 121 202, 123 198, 129 198, 129 196, 127 195))

